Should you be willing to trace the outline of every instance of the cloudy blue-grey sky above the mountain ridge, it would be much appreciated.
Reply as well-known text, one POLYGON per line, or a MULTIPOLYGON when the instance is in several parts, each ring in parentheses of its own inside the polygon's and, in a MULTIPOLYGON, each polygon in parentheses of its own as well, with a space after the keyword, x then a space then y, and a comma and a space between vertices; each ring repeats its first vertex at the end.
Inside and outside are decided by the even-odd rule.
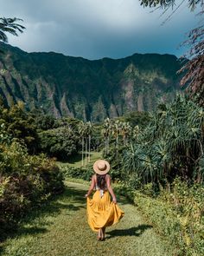
POLYGON ((168 14, 161 13, 150 13, 138 0, 0 0, 0 16, 22 18, 26 27, 22 35, 9 36, 10 44, 88 59, 134 53, 181 56, 184 49, 178 47, 196 26, 196 11, 184 3, 163 26, 168 14))

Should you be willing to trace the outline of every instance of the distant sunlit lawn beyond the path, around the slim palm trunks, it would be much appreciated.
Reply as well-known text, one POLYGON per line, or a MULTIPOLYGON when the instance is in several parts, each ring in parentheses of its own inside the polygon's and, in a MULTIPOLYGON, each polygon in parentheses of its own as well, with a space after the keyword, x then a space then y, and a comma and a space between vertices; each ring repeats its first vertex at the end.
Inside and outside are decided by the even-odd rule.
MULTIPOLYGON (((100 159, 101 152, 91 152, 91 158, 90 158, 90 163, 93 164, 94 161, 97 161, 100 159)), ((58 165, 61 166, 70 166, 70 167, 81 167, 81 154, 74 154, 72 157, 70 157, 70 160, 67 162, 62 162, 62 161, 57 161, 58 165)), ((84 160, 85 164, 85 160, 84 160)))

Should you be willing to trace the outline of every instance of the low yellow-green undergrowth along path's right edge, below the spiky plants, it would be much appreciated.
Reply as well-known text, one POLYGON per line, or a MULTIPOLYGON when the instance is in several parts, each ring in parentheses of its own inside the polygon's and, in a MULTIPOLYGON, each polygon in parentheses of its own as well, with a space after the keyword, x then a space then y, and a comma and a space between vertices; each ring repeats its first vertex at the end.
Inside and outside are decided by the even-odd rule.
POLYGON ((141 190, 135 190, 120 181, 114 191, 134 202, 157 233, 172 246, 174 255, 203 255, 204 187, 199 184, 190 187, 175 179, 171 187, 160 187, 157 196, 152 187, 149 183, 141 190))

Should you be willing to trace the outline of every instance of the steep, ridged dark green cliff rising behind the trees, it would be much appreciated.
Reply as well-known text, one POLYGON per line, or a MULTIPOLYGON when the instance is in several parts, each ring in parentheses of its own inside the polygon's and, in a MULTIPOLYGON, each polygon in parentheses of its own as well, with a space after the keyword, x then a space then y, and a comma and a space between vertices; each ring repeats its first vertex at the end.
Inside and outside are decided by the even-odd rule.
POLYGON ((135 54, 89 61, 54 52, 26 53, 0 43, 0 95, 54 116, 101 121, 128 111, 153 110, 179 89, 175 56, 135 54))

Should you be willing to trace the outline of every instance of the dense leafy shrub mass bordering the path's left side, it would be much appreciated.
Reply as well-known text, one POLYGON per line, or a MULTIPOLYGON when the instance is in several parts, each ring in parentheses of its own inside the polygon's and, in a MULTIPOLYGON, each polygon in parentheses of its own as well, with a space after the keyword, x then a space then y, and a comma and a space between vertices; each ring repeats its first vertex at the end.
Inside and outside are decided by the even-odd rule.
POLYGON ((54 160, 32 156, 13 141, 0 146, 0 233, 50 195, 63 190, 63 175, 54 160))

